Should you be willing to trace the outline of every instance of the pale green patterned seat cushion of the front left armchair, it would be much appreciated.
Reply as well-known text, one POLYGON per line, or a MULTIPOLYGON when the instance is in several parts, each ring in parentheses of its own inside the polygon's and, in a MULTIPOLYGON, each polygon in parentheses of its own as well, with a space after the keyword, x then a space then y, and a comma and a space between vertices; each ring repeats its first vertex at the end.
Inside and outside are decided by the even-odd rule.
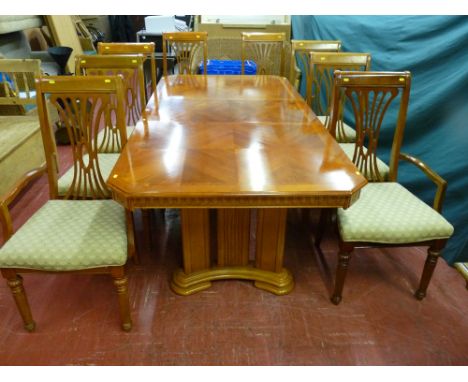
POLYGON ((0 268, 68 271, 127 261, 125 210, 112 200, 51 200, 0 249, 0 268))

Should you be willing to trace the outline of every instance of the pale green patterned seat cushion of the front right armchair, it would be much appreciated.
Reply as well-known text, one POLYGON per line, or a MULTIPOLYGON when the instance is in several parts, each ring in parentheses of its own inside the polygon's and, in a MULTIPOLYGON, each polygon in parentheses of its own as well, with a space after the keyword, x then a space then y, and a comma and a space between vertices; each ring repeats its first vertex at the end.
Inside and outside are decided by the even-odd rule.
POLYGON ((369 183, 348 209, 338 209, 345 242, 418 243, 447 239, 453 226, 396 182, 369 183))

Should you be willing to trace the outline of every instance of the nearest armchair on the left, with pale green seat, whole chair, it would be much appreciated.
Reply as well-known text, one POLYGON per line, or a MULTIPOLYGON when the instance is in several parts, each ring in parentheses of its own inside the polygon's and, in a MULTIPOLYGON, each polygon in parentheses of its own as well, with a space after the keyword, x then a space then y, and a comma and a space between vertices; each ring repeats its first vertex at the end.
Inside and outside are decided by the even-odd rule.
MULTIPOLYGON (((133 227, 129 213, 107 199, 110 191, 97 155, 100 123, 113 113, 121 123, 125 118, 121 105, 123 80, 110 76, 48 77, 36 80, 36 93, 50 200, 12 234, 8 206, 21 187, 0 199, 0 220, 7 240, 0 249, 1 273, 28 331, 35 329, 35 322, 19 274, 109 274, 118 294, 122 329, 129 331, 132 321, 124 266, 134 253, 133 227), (57 149, 46 99, 59 110, 73 152, 73 182, 61 199, 57 149)), ((34 176, 31 174, 31 178, 34 176)))

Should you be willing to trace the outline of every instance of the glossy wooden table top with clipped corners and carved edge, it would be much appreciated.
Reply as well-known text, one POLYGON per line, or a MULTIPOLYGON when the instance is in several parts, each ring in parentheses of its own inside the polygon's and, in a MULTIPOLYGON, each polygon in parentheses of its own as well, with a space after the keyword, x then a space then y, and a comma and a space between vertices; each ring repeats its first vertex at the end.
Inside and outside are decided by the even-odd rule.
POLYGON ((130 209, 347 207, 366 180, 285 78, 175 75, 108 184, 130 209))

